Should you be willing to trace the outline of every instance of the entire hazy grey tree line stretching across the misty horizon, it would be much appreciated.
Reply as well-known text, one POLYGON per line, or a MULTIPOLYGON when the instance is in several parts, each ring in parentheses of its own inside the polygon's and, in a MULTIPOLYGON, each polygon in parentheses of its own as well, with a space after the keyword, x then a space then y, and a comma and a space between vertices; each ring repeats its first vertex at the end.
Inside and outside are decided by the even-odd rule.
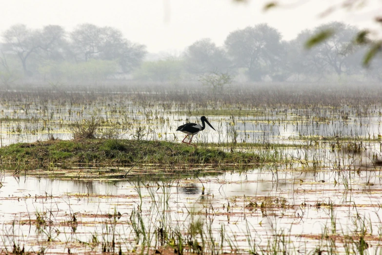
POLYGON ((229 33, 221 46, 205 38, 180 56, 145 60, 145 45, 127 40, 120 30, 80 24, 67 32, 59 25, 30 29, 16 24, 2 33, 0 82, 18 79, 105 80, 128 77, 149 81, 195 80, 224 73, 245 81, 314 81, 351 75, 382 79, 381 59, 362 66, 365 47, 354 38, 357 27, 331 22, 302 31, 291 41, 268 24, 229 33), (334 35, 307 50, 309 38, 331 29, 334 35))

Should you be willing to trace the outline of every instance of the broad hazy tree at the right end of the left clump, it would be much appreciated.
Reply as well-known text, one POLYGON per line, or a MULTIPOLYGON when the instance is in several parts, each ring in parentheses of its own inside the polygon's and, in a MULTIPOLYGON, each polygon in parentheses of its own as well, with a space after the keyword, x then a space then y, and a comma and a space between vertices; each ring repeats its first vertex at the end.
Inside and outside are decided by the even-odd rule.
POLYGON ((118 60, 123 72, 141 64, 145 46, 133 44, 123 38, 120 30, 81 24, 71 34, 73 55, 77 61, 89 59, 118 60))

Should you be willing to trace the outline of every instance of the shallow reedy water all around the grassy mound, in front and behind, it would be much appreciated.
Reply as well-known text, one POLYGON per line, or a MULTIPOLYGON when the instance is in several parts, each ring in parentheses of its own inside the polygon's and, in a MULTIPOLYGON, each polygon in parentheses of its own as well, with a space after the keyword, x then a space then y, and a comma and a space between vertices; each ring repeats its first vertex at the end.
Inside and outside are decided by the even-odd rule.
MULTIPOLYGON (((1 146, 46 140, 50 134, 71 139, 69 124, 94 112, 105 121, 101 131, 115 124, 118 138, 180 142, 184 135, 176 127, 199 122, 185 108, 102 100, 47 102, 28 109, 0 105, 1 146)), ((260 143, 264 148, 223 149, 269 153, 278 162, 251 170, 145 166, 131 170, 126 179, 126 166, 114 174, 110 168, 32 167, 28 176, 23 171, 13 176, 14 169, 5 166, 0 172, 0 253, 9 253, 14 244, 45 254, 67 254, 68 248, 76 254, 117 253, 120 247, 123 253, 140 252, 161 246, 160 230, 168 234, 163 244, 174 246, 181 233, 185 244, 204 243, 207 254, 266 254, 274 244, 280 254, 316 254, 333 248, 334 239, 337 251, 347 253, 351 247, 361 253, 356 250, 360 236, 368 252, 381 253, 381 110, 247 110, 254 114, 207 115, 217 131, 207 127, 193 141, 260 143), (272 144, 294 146, 268 149, 272 144), (192 226, 201 228, 196 236, 189 231, 192 226)))

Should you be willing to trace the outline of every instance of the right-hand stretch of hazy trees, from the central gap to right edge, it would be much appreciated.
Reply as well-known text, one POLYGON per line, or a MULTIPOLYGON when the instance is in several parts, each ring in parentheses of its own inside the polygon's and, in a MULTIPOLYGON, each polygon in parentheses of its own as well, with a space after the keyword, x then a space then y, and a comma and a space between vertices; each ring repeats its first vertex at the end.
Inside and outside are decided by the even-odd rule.
POLYGON ((381 79, 380 59, 370 68, 362 66, 367 49, 354 41, 359 33, 354 26, 331 22, 284 41, 277 29, 258 24, 231 32, 221 47, 209 39, 197 41, 187 48, 184 61, 189 72, 234 71, 250 81, 312 81, 342 75, 381 79), (307 49, 310 38, 329 29, 333 36, 307 49))

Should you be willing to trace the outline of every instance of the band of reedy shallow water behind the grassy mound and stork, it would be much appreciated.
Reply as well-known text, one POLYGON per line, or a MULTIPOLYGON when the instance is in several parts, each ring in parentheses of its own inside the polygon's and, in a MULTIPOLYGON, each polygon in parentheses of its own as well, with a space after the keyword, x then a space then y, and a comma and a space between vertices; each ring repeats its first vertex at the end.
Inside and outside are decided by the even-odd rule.
MULTIPOLYGON (((195 141, 296 144, 309 136, 375 139, 381 134, 381 109, 376 107, 362 114, 358 108, 348 106, 336 110, 326 107, 247 110, 257 113, 239 117, 207 115, 217 131, 206 127, 195 141)), ((51 102, 28 110, 24 105, 0 105, 1 145, 46 140, 49 134, 62 140, 71 139, 69 124, 94 114, 105 121, 103 130, 117 125, 119 138, 125 139, 140 135, 143 139, 180 142, 184 134, 176 128, 186 122, 200 122, 200 116, 190 116, 184 110, 163 110, 161 105, 142 107, 129 101, 105 100, 84 105, 51 102)))

